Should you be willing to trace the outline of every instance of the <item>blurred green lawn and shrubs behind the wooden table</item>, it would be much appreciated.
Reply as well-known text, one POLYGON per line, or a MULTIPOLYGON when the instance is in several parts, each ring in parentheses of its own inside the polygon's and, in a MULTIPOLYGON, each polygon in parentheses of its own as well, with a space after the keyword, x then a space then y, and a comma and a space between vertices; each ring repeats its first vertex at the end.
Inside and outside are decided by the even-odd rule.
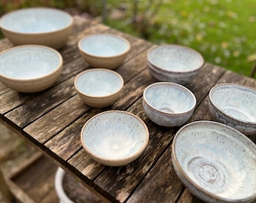
POLYGON ((256 62, 255 0, 0 0, 0 16, 38 6, 75 8, 154 44, 191 47, 206 62, 246 76, 256 62))

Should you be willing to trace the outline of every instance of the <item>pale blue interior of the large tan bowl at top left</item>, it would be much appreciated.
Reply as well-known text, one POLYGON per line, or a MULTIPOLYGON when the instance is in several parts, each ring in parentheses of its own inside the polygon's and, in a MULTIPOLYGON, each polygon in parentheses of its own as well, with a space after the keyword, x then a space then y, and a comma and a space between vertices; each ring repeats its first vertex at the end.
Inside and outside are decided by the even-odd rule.
POLYGON ((51 8, 27 8, 6 14, 0 26, 13 32, 40 33, 64 29, 72 24, 72 17, 51 8))

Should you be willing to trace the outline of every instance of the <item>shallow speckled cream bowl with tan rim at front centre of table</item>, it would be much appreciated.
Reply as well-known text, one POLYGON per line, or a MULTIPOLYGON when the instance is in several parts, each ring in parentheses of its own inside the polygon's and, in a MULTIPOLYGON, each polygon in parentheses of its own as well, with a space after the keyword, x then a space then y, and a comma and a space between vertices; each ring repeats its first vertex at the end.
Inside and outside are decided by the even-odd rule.
POLYGON ((126 165, 137 159, 148 144, 148 128, 126 111, 96 114, 81 131, 84 149, 103 165, 126 165))

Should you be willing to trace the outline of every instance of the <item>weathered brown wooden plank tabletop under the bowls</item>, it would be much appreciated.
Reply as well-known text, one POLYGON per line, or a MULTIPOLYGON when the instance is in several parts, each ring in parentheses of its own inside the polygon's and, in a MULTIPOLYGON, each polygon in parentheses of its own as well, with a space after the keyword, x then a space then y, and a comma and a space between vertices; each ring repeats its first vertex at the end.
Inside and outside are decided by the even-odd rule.
MULTIPOLYGON (((114 29, 75 17, 75 29, 66 47, 59 52, 64 60, 61 77, 50 89, 25 94, 0 83, 1 121, 38 147, 44 154, 106 201, 120 202, 195 202, 200 201, 184 188, 171 161, 172 139, 178 128, 166 129, 152 123, 142 108, 142 92, 154 83, 146 65, 147 50, 154 44, 114 29), (78 52, 84 35, 111 33, 130 41, 131 51, 123 65, 115 69, 125 82, 120 99, 111 107, 90 108, 74 89, 75 76, 88 67, 78 52), (130 111, 145 121, 150 141, 136 161, 122 167, 95 162, 81 145, 80 132, 93 115, 110 109, 130 111)), ((4 39, 0 51, 12 47, 4 39)), ((212 120, 208 109, 209 90, 217 83, 240 83, 256 88, 256 80, 215 65, 203 69, 187 85, 197 98, 197 108, 189 122, 212 120)))

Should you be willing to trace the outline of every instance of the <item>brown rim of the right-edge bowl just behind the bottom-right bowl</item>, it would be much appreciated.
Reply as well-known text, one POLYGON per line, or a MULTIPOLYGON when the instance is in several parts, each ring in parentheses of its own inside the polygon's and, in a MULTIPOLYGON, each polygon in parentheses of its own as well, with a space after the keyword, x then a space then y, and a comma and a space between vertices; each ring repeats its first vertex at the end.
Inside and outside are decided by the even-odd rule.
POLYGON ((241 123, 246 123, 246 124, 254 124, 256 125, 256 121, 250 121, 250 120, 242 120, 242 119, 239 119, 239 118, 236 118, 236 117, 233 117, 232 115, 230 114, 227 114, 225 113, 221 108, 218 107, 218 105, 215 104, 213 98, 212 98, 212 94, 214 91, 216 91, 216 89, 218 89, 219 87, 221 86, 238 86, 239 88, 242 88, 242 89, 251 89, 253 90, 254 92, 256 92, 256 89, 254 89, 253 87, 251 86, 245 86, 245 85, 242 85, 242 84, 238 84, 238 83, 219 83, 215 86, 212 86, 212 88, 210 89, 210 92, 209 92, 209 102, 215 107, 218 109, 218 111, 221 112, 221 114, 224 114, 226 117, 230 118, 231 120, 236 120, 236 121, 239 121, 241 123))

